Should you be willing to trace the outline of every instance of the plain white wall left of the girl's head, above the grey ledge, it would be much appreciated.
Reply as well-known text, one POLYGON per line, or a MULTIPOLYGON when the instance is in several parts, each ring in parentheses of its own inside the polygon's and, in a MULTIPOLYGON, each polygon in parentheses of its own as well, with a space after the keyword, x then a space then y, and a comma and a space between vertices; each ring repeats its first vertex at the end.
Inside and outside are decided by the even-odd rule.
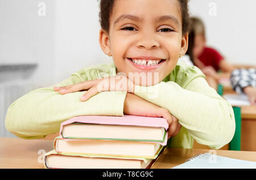
POLYGON ((31 79, 47 87, 89 65, 111 61, 98 42, 95 0, 0 0, 0 63, 38 63, 31 79), (46 4, 46 16, 38 5, 46 4))

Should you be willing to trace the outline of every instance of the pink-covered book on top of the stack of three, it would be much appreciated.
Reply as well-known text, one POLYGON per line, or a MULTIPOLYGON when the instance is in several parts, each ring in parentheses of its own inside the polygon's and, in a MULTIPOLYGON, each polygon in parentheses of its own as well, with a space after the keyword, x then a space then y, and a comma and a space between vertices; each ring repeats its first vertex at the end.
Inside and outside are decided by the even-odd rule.
POLYGON ((167 144, 168 122, 159 117, 82 115, 61 123, 65 140, 122 140, 167 144))

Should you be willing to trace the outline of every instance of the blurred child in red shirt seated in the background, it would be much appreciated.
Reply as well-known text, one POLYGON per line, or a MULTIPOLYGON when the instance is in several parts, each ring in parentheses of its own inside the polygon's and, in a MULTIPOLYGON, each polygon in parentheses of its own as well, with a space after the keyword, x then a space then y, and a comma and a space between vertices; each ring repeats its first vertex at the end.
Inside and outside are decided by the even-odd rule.
POLYGON ((225 58, 217 50, 206 46, 205 27, 202 20, 193 17, 191 22, 193 36, 195 36, 192 61, 204 72, 210 87, 217 89, 218 80, 220 78, 229 78, 234 67, 225 61, 225 58), (222 73, 218 74, 218 71, 222 73))

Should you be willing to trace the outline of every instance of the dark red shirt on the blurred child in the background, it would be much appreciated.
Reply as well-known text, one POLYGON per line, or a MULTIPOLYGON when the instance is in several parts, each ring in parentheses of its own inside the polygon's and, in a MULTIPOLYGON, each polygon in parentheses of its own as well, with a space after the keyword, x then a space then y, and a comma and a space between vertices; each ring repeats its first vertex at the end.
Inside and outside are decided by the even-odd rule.
POLYGON ((217 50, 205 47, 203 53, 198 57, 198 59, 203 62, 205 66, 212 66, 216 71, 218 71, 220 69, 218 64, 224 58, 217 52, 217 50))

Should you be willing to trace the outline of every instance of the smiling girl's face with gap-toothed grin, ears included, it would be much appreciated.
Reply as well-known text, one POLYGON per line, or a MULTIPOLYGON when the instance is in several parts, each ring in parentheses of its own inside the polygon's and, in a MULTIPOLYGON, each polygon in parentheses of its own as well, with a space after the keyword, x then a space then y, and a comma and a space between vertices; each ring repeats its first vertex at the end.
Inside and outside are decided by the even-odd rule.
POLYGON ((109 34, 100 31, 101 48, 133 82, 129 72, 144 72, 151 85, 162 82, 187 51, 177 0, 116 0, 109 23, 109 34))

